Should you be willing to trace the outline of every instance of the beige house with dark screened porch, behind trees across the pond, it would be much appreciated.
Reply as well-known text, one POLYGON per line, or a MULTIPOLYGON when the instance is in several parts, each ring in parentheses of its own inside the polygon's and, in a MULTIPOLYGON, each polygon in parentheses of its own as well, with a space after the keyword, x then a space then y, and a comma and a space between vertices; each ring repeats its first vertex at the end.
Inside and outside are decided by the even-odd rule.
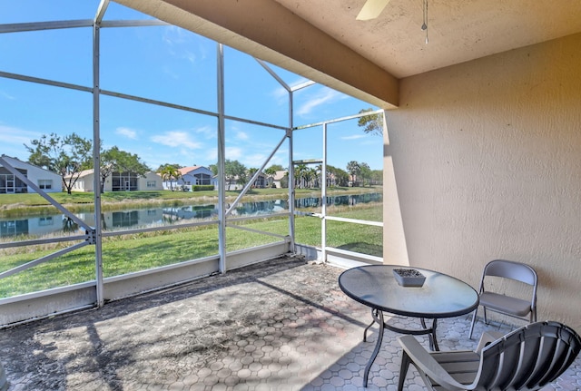
MULTIPOLYGON (((145 177, 134 172, 113 172, 105 180, 103 191, 161 191, 162 177, 155 172, 147 172, 145 177)), ((71 191, 94 191, 94 171, 81 171, 71 191)))

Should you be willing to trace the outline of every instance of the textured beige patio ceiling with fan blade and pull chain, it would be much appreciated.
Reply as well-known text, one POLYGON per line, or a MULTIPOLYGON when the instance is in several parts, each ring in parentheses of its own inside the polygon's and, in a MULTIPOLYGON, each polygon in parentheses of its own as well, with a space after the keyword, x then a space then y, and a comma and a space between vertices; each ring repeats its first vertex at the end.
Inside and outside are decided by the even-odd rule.
POLYGON ((276 1, 397 78, 581 32, 579 0, 428 0, 428 44, 423 0, 369 21, 365 0, 276 1))

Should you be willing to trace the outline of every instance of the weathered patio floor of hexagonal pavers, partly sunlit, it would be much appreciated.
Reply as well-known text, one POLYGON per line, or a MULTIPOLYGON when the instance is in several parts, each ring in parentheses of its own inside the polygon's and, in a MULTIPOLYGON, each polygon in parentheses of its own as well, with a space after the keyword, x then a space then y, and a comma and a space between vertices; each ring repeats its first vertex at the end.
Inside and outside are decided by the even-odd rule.
MULTIPOLYGON (((395 390, 401 349, 386 331, 362 341, 369 308, 341 269, 273 259, 135 298, 0 331, 10 390, 395 390)), ((417 327, 417 319, 391 321, 417 327)), ((444 349, 471 349, 469 317, 438 323, 444 349)), ((475 336, 486 327, 478 322, 475 336)), ((422 340, 427 344, 427 339, 422 340)), ((427 345, 426 345, 427 346, 427 345)), ((409 391, 423 388, 417 374, 409 391)), ((544 390, 580 390, 581 358, 544 390)))

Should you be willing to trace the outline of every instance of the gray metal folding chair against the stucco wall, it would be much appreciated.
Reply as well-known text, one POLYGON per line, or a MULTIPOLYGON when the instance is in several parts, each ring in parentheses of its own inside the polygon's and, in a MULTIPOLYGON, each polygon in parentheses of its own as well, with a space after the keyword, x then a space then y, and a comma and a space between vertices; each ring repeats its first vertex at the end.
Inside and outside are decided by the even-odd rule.
MULTIPOLYGON (((528 320, 529 323, 537 321, 537 272, 524 263, 512 260, 495 259, 488 262, 482 272, 480 288, 478 290, 480 303, 484 310, 484 322, 488 324, 487 309, 514 318, 528 320), (501 293, 493 292, 487 288, 485 280, 487 277, 499 277, 507 280, 517 280, 532 287, 530 299, 515 298, 501 293), (528 317, 528 318, 527 318, 528 317)), ((469 337, 472 338, 474 324, 478 308, 474 310, 472 325, 470 326, 469 337)))

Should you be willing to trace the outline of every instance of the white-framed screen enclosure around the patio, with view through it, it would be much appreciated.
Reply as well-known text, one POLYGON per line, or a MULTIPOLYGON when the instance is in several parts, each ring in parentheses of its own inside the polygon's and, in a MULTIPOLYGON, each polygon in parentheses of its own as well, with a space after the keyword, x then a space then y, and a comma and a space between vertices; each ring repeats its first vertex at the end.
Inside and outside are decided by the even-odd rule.
POLYGON ((114 2, 25 3, 0 13, 14 54, 0 57, 0 166, 6 189, 25 189, 0 194, 2 327, 287 254, 380 261, 381 181, 345 162, 380 171, 383 111, 365 112, 379 123, 366 132, 369 103, 114 2), (93 191, 55 197, 23 167, 35 141, 71 135, 90 142, 74 172, 93 191), (112 175, 112 149, 149 171, 112 175), (214 165, 215 190, 172 197, 158 167, 174 163, 214 165), (257 183, 288 189, 259 199, 257 183))

